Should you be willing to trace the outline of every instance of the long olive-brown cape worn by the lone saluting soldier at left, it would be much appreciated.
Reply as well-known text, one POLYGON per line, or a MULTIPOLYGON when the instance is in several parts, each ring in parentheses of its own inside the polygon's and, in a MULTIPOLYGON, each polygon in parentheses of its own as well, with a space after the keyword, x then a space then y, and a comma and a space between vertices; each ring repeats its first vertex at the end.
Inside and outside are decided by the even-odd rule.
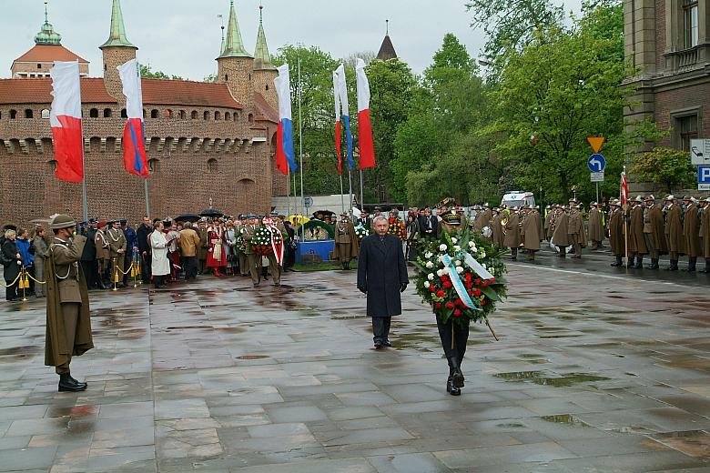
POLYGON ((78 264, 86 237, 77 235, 68 244, 55 240, 49 247, 45 265, 46 280, 46 345, 45 365, 64 365, 72 356, 78 357, 94 347, 91 337, 86 279, 78 264), (81 302, 76 323, 74 346, 69 347, 62 302, 81 302))

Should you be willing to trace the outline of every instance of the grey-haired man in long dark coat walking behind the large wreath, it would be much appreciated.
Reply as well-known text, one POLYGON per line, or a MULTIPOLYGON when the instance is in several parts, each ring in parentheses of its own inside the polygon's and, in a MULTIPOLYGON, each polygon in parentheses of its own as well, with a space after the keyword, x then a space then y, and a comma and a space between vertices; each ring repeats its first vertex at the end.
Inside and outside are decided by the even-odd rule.
POLYGON ((372 222, 375 233, 362 239, 358 261, 358 289, 367 294, 375 348, 391 347, 392 316, 401 314, 400 293, 410 283, 399 237, 387 235, 387 217, 372 222))

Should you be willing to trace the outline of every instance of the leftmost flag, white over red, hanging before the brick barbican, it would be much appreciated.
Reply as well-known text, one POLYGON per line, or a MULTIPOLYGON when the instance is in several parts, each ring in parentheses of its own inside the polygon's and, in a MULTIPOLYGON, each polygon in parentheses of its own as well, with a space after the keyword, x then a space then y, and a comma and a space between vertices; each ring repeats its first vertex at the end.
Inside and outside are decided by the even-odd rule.
POLYGON ((56 61, 52 77, 52 110, 49 125, 55 146, 56 178, 69 182, 84 180, 81 136, 81 86, 79 62, 56 61))

